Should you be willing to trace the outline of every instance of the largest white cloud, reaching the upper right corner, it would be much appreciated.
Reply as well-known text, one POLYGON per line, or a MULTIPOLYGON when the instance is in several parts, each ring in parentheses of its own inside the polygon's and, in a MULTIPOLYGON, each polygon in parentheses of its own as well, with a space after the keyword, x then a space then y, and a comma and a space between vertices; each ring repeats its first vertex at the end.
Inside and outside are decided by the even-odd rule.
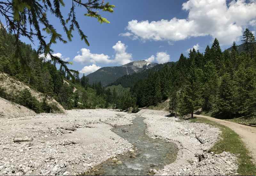
MULTIPOLYGON (((141 40, 179 41, 189 37, 211 35, 221 44, 237 41, 246 25, 254 25, 256 2, 233 0, 188 0, 182 4, 182 10, 188 11, 186 19, 172 18, 159 21, 128 22, 129 36, 141 40)), ((124 33, 126 34, 126 33, 124 33)))

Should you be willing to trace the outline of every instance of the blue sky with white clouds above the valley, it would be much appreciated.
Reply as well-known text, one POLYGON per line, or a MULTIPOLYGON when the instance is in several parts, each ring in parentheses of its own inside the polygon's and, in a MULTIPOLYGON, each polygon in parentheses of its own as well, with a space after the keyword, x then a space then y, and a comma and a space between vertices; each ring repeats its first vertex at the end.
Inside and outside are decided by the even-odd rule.
MULTIPOLYGON (((256 0, 105 0, 115 5, 114 13, 99 13, 110 21, 100 24, 76 9, 81 29, 90 46, 73 31, 71 42, 52 45, 56 56, 73 62, 68 67, 85 75, 105 66, 120 66, 136 60, 165 63, 188 55, 193 47, 204 52, 216 37, 221 49, 233 41, 241 44, 246 27, 256 31, 256 0)), ((61 8, 67 16, 70 3, 61 8)), ((67 38, 55 17, 49 21, 67 38)), ((3 20, 1 20, 3 21, 3 20)), ((255 34, 255 32, 254 32, 255 34)), ((30 43, 22 37, 21 40, 30 43)), ((35 41, 36 43, 36 41, 35 41)), ((37 48, 36 45, 32 47, 37 48)))

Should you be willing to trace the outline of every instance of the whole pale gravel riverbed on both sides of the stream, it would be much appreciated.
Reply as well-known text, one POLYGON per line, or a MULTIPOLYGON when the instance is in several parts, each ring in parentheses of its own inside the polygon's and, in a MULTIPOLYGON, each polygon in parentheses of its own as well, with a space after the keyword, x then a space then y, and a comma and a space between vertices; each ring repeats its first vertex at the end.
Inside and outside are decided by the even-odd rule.
MULTIPOLYGON (((172 141, 180 148, 174 163, 149 172, 157 175, 236 174, 236 157, 233 154, 207 153, 219 138, 218 128, 164 117, 159 111, 139 113, 145 117, 150 138, 172 141), (195 138, 195 133, 204 144, 195 138), (196 157, 199 154, 205 157, 201 162, 196 157)), ((133 148, 111 128, 131 124, 134 118, 136 114, 101 109, 0 118, 0 175, 82 174, 133 148), (17 137, 33 140, 14 143, 13 138, 17 137)))

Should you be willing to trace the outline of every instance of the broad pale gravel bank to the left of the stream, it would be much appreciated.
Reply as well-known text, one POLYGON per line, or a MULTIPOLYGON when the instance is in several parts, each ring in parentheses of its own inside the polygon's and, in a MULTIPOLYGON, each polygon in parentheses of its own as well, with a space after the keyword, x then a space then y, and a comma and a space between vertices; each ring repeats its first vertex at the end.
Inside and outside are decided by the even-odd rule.
POLYGON ((84 173, 132 148, 132 144, 110 129, 129 124, 133 118, 133 114, 111 110, 72 110, 67 114, 2 118, 0 175, 84 173), (67 126, 74 126, 76 130, 65 129, 67 126), (14 143, 16 137, 32 141, 14 143))

